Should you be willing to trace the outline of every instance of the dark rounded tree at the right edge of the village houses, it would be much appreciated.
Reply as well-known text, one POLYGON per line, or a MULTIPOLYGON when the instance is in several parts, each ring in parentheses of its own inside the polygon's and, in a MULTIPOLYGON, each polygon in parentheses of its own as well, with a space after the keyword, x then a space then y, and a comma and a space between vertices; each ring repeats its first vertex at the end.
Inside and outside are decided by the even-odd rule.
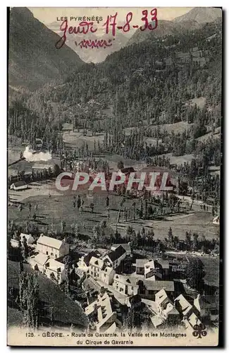
POLYGON ((190 258, 185 268, 187 285, 202 291, 204 285, 204 264, 199 258, 190 258))

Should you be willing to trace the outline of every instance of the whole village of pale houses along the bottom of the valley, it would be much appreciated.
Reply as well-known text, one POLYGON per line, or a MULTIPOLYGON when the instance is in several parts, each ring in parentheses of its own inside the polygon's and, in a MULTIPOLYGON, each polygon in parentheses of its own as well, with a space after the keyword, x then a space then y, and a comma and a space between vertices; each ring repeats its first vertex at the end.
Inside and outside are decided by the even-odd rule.
POLYGON ((25 262, 38 276, 63 290, 67 285, 68 295, 80 290, 78 302, 92 331, 176 326, 191 332, 194 325, 217 325, 213 296, 187 286, 185 268, 192 258, 138 258, 131 241, 109 249, 79 250, 74 257, 66 239, 44 234, 37 241, 31 234, 20 234, 18 241, 11 239, 11 246, 27 252, 25 262))

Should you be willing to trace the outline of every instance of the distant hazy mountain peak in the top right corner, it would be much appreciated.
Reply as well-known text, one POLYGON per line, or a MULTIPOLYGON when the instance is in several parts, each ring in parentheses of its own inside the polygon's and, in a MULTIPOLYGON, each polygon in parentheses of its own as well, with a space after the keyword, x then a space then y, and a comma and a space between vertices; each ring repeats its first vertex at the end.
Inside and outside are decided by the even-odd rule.
POLYGON ((196 21, 197 23, 214 22, 222 16, 221 8, 213 7, 194 7, 185 15, 179 16, 173 20, 173 23, 182 23, 184 21, 196 21))

